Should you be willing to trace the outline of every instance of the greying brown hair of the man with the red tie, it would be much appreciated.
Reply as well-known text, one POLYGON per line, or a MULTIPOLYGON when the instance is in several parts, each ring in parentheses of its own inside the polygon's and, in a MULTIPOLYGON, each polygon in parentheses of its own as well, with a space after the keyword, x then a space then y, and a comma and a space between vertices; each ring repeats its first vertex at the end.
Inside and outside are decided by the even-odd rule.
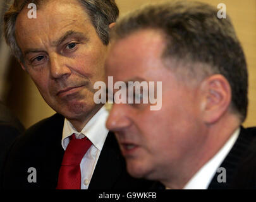
MULTIPOLYGON (((16 18, 21 10, 30 3, 37 5, 37 9, 51 0, 15 0, 4 15, 4 36, 11 52, 23 62, 23 56, 15 37, 16 18)), ((89 16, 97 35, 104 45, 109 44, 109 24, 116 21, 119 9, 114 0, 77 0, 89 16)), ((60 2, 61 3, 61 2, 60 2)))

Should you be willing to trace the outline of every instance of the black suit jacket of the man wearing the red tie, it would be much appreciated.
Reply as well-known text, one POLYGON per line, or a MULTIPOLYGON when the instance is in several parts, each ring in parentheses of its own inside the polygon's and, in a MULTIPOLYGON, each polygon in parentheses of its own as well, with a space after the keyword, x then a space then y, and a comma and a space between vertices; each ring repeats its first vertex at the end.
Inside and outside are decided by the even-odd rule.
MULTIPOLYGON (((63 124, 64 117, 55 114, 16 139, 4 165, 4 189, 56 188, 64 155, 61 146, 63 124), (37 182, 28 182, 30 167, 37 171, 37 182)), ((152 183, 128 175, 116 138, 109 133, 88 189, 147 189, 152 183)))

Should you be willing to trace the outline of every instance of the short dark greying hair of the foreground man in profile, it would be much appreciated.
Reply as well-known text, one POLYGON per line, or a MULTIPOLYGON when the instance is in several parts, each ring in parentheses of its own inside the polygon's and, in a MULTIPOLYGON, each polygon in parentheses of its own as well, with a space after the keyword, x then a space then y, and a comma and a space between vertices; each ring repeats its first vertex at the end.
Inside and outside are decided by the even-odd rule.
POLYGON ((243 122, 248 105, 247 63, 229 16, 219 19, 217 12, 208 4, 191 1, 151 4, 119 19, 111 37, 119 40, 140 30, 160 30, 166 40, 163 59, 188 64, 184 67, 190 75, 222 74, 231 86, 231 109, 243 122))

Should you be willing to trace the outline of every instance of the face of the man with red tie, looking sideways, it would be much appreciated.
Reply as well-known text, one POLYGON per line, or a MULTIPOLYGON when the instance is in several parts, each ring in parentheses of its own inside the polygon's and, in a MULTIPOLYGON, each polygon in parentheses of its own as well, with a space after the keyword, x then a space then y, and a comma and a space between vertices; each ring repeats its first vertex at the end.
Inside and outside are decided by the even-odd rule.
POLYGON ((107 46, 76 1, 50 1, 29 19, 24 8, 16 40, 25 67, 52 109, 70 120, 86 119, 95 108, 95 81, 104 81, 107 46))

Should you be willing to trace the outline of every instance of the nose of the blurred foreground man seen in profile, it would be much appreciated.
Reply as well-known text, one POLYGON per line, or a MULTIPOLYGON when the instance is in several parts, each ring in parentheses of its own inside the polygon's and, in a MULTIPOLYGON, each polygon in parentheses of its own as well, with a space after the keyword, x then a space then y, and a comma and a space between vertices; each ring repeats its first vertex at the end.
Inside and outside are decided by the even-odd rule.
POLYGON ((126 108, 126 104, 113 104, 106 122, 107 129, 121 131, 131 126, 131 119, 128 117, 129 113, 126 108))

